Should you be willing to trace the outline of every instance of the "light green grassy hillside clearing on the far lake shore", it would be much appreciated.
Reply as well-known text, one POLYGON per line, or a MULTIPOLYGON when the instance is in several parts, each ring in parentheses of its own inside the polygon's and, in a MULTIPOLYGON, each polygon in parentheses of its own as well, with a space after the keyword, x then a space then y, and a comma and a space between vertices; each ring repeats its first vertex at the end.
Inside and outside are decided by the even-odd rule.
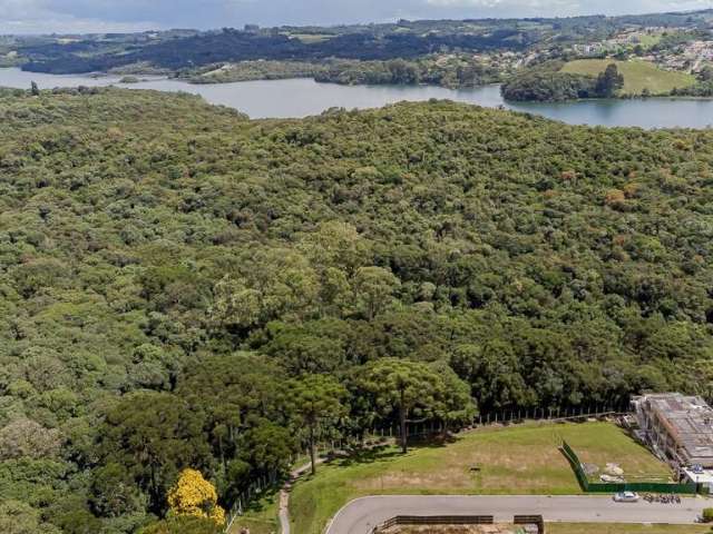
POLYGON ((674 88, 695 83, 695 78, 685 72, 671 72, 660 69, 648 61, 615 61, 612 59, 578 59, 563 67, 563 72, 597 76, 607 65, 616 63, 624 75, 624 93, 641 95, 648 89, 652 95, 668 93, 674 88))

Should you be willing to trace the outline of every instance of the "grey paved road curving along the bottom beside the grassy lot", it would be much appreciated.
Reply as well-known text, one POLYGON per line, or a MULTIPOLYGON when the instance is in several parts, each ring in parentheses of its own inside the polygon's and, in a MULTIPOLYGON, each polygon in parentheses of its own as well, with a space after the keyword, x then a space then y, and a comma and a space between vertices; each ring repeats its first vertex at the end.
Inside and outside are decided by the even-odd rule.
POLYGON ((373 496, 352 501, 333 518, 326 534, 368 534, 394 515, 495 515, 512 521, 516 514, 541 514, 545 521, 570 523, 693 523, 704 498, 681 504, 615 503, 609 496, 373 496))

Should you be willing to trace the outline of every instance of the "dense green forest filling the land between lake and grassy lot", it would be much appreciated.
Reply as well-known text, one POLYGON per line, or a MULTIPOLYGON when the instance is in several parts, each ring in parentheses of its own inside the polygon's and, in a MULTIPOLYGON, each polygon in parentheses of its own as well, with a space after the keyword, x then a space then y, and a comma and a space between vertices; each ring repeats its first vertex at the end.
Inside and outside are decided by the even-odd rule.
POLYGON ((442 101, 1 92, 0 531, 211 532, 147 526, 184 468, 227 507, 324 437, 710 397, 712 165, 442 101))

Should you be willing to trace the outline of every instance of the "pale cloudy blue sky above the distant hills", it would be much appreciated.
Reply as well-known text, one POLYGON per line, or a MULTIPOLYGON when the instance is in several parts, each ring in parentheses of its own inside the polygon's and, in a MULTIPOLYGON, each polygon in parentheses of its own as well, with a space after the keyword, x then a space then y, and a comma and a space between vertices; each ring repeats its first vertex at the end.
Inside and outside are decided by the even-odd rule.
POLYGON ((0 33, 568 17, 713 8, 713 0, 0 0, 0 33))

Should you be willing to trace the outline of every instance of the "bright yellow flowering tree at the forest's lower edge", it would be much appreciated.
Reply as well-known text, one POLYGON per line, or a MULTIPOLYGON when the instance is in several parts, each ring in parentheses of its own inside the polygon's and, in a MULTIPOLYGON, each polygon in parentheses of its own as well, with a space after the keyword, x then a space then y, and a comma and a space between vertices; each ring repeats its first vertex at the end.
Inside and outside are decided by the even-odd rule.
POLYGON ((225 511, 217 504, 215 487, 199 471, 184 469, 168 492, 168 506, 174 515, 193 515, 225 524, 225 511))

